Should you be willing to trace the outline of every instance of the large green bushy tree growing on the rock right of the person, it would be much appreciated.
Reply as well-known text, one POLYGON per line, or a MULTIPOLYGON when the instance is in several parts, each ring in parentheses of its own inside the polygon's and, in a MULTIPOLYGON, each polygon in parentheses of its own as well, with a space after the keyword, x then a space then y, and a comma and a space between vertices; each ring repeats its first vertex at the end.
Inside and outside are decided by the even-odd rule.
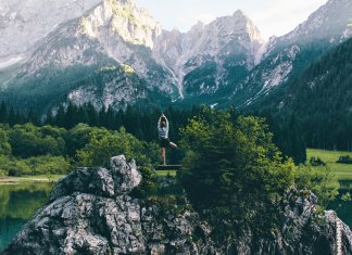
POLYGON ((272 220, 262 218, 293 184, 294 164, 281 157, 264 119, 231 119, 228 112, 204 107, 181 135, 188 153, 180 179, 197 209, 216 214, 224 229, 275 221, 274 212, 272 220))

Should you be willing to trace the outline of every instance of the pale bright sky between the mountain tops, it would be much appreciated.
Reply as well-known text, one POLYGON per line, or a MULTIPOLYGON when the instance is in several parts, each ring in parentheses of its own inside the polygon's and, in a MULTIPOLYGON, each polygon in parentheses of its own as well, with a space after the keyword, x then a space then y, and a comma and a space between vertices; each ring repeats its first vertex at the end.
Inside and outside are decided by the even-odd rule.
POLYGON ((281 36, 292 30, 327 0, 136 0, 162 26, 187 31, 198 21, 209 23, 218 16, 242 10, 261 30, 262 37, 281 36))

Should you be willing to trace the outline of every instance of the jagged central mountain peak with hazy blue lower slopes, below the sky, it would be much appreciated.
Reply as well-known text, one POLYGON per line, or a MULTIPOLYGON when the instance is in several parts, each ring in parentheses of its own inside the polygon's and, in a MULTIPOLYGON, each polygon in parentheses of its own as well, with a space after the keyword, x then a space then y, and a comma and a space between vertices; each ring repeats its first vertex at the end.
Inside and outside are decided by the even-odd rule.
POLYGON ((153 50, 159 63, 175 74, 186 95, 211 94, 228 82, 231 71, 249 72, 264 40, 241 12, 199 22, 188 33, 164 31, 153 50))

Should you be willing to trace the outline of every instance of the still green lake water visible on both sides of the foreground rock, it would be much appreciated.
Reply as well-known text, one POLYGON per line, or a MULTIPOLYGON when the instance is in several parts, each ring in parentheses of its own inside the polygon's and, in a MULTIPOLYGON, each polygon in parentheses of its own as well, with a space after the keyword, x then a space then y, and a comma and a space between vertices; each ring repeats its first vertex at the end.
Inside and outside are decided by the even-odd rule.
MULTIPOLYGON (((352 192, 352 181, 344 184, 344 192, 352 192)), ((0 251, 47 202, 52 188, 52 184, 47 183, 0 186, 0 251)), ((352 201, 343 202, 337 199, 329 208, 336 209, 339 217, 352 228, 352 201)))

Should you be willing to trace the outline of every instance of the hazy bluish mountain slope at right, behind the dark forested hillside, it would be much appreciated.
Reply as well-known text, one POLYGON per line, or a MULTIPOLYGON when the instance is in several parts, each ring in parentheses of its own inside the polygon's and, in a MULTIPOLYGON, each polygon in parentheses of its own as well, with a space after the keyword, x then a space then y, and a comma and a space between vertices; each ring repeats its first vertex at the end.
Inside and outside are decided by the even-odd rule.
POLYGON ((352 36, 351 13, 350 0, 330 0, 292 31, 272 37, 259 65, 222 102, 230 100, 239 107, 251 107, 277 89, 285 89, 322 54, 352 36))

